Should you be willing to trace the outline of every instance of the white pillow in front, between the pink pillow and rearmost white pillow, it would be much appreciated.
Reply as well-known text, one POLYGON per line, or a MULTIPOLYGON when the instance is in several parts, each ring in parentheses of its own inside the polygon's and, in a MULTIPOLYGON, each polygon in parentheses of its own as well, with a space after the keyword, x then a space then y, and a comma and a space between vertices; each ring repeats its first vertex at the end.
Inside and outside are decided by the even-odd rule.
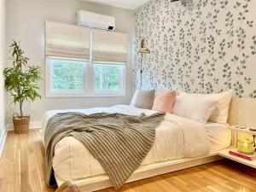
POLYGON ((217 105, 218 99, 215 98, 189 95, 177 96, 172 113, 187 119, 207 123, 217 105))

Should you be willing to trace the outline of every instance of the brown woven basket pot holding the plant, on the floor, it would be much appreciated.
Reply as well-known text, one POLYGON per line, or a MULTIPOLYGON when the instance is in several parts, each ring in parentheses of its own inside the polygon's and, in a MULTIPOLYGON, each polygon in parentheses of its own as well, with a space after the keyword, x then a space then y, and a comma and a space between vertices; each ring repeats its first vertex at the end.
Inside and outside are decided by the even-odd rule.
POLYGON ((22 134, 27 133, 29 130, 30 116, 20 117, 16 113, 13 116, 13 122, 15 126, 15 133, 22 134))

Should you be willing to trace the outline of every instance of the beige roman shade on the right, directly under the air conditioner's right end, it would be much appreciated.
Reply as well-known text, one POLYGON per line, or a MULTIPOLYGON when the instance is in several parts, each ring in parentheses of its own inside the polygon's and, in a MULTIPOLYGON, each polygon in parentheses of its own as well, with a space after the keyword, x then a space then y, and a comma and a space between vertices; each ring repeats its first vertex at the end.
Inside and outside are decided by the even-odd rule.
POLYGON ((93 30, 92 37, 92 61, 94 63, 125 64, 127 62, 127 34, 93 30))

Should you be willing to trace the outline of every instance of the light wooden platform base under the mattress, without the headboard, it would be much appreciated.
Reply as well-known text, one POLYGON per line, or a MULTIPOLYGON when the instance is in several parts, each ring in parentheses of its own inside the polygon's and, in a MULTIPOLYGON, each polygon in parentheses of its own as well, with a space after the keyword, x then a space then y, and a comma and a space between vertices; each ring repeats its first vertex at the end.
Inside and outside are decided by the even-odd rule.
MULTIPOLYGON (((200 166, 213 161, 222 160, 223 157, 218 156, 218 153, 210 154, 199 158, 184 158, 180 160, 168 160, 165 162, 155 163, 153 165, 141 166, 134 172, 126 183, 131 183, 148 177, 154 177, 168 172, 176 172, 192 166, 200 166)), ((92 192, 100 189, 112 187, 109 178, 106 175, 88 177, 79 180, 74 180, 79 186, 81 192, 92 192)))

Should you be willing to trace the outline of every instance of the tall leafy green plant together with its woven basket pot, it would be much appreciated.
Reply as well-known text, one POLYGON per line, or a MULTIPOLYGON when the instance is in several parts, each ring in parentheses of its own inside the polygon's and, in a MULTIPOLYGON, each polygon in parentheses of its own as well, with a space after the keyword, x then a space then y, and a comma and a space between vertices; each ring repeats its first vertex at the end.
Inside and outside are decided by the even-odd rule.
POLYGON ((38 66, 28 64, 29 59, 20 49, 20 44, 13 41, 10 45, 12 50, 12 67, 3 70, 5 77, 4 86, 14 96, 14 103, 19 103, 20 114, 13 115, 15 133, 26 133, 29 130, 30 115, 24 115, 23 104, 25 101, 34 101, 41 98, 38 93, 38 81, 41 79, 41 70, 38 66))

